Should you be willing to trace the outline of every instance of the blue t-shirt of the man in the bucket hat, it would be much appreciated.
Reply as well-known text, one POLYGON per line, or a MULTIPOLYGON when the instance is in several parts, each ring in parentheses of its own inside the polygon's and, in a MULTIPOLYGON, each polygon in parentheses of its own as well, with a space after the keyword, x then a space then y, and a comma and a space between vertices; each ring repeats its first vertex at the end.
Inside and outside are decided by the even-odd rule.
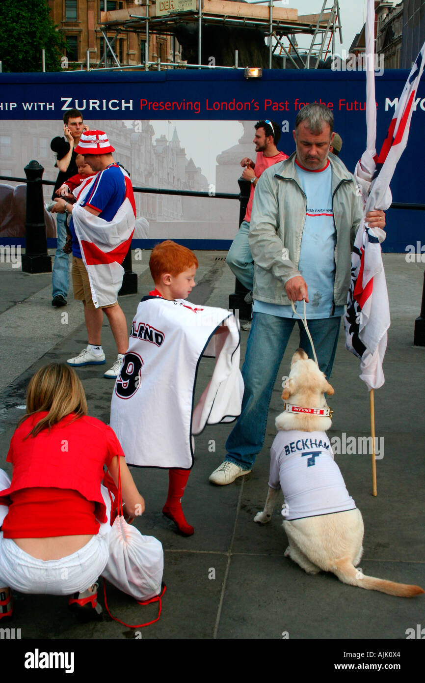
MULTIPOLYGON (((99 218, 111 221, 126 197, 126 180, 118 164, 108 166, 98 173, 80 206, 89 206, 100 211, 99 218)), ((82 258, 80 243, 75 234, 74 223, 70 222, 72 234, 72 255, 82 258)))

